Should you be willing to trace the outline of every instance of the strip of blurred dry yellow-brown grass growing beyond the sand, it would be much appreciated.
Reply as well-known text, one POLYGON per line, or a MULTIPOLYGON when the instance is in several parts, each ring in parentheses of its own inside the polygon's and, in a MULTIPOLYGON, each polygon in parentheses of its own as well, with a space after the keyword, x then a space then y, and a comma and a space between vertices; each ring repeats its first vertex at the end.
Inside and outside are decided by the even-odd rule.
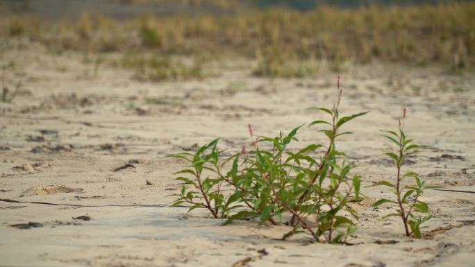
POLYGON ((272 9, 126 21, 88 14, 57 22, 10 17, 1 19, 0 34, 27 36, 59 52, 244 55, 258 60, 254 73, 261 76, 311 76, 319 60, 331 62, 336 71, 342 62, 372 60, 469 69, 475 64, 475 3, 322 6, 309 12, 272 9))

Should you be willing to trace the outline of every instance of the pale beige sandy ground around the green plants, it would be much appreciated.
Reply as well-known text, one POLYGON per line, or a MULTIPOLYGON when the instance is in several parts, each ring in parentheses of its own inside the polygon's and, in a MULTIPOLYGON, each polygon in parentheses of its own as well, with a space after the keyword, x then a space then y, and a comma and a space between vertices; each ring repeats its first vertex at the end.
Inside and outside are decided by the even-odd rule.
MULTIPOLYGON (((407 239, 397 218, 378 220, 390 209, 367 200, 355 206, 354 245, 325 245, 306 234, 280 241, 285 225, 220 226, 204 210, 184 216, 167 197, 180 187, 172 173, 183 162, 164 156, 215 137, 238 151, 249 141, 247 123, 258 135, 277 135, 313 121, 322 114, 305 108, 331 105, 336 74, 254 78, 243 61, 219 63, 220 75, 204 80, 141 83, 106 65, 94 75, 81 54, 2 42, 5 83, 12 91, 22 78, 22 86, 12 103, 0 103, 0 266, 474 266, 473 74, 381 64, 342 74, 341 112, 371 110, 338 144, 365 184, 394 177, 378 129, 394 128, 408 107, 408 134, 434 147, 408 168, 451 191, 423 196, 435 217, 426 239, 407 239), (133 167, 115 171, 127 163, 133 167), (85 215, 92 219, 72 219, 85 215), (42 227, 11 226, 28 222, 42 227)), ((316 130, 301 132, 302 146, 324 140, 316 130)))

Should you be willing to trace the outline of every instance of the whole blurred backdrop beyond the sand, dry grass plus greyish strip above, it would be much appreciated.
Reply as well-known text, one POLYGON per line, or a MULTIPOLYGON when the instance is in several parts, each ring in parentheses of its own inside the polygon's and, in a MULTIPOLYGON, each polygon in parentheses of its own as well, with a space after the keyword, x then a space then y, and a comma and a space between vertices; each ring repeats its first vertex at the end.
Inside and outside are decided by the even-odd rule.
POLYGON ((203 64, 233 57, 274 77, 314 76, 319 62, 332 71, 347 62, 475 64, 472 1, 84 0, 72 10, 68 2, 4 1, 0 37, 53 53, 120 53, 116 64, 151 80, 202 78, 203 64))

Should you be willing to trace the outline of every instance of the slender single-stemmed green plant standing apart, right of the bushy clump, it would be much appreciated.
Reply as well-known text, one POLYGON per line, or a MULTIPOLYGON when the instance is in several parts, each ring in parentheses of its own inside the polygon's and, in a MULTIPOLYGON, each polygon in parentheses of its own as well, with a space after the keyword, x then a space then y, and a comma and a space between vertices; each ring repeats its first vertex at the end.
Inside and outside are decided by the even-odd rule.
POLYGON ((387 214, 383 218, 390 216, 399 216, 404 225, 406 236, 420 238, 420 225, 432 218, 427 203, 419 200, 419 197, 424 193, 425 189, 437 188, 438 186, 426 185, 426 182, 419 178, 417 173, 408 171, 402 172, 402 166, 406 163, 406 158, 416 153, 417 148, 426 148, 427 146, 420 146, 413 144, 412 139, 408 139, 404 132, 404 121, 406 119, 406 108, 399 119, 399 127, 397 132, 385 130, 384 137, 391 141, 396 146, 394 152, 385 153, 394 161, 394 166, 397 169, 396 184, 387 181, 375 182, 372 186, 386 186, 390 187, 390 191, 394 193, 396 199, 381 199, 373 204, 373 207, 378 207, 383 203, 393 203, 397 205, 397 212, 387 214), (407 178, 414 178, 415 184, 404 186, 403 180, 407 178))

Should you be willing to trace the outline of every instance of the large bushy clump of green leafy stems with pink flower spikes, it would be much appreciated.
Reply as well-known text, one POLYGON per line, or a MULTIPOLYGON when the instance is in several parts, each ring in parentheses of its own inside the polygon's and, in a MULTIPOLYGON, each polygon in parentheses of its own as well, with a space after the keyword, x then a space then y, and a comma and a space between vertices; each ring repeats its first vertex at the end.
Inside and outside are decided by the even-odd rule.
POLYGON ((338 79, 337 101, 333 108, 315 107, 329 115, 330 120, 316 120, 310 126, 326 125, 319 130, 328 138, 328 145, 310 144, 299 150, 297 133, 302 126, 287 135, 253 136, 254 151, 243 146, 241 153, 219 160, 218 139, 201 146, 194 154, 170 155, 190 162, 178 177, 185 182, 174 205, 190 203, 190 211, 205 207, 215 218, 226 218, 224 224, 238 219, 258 218, 260 223, 285 221, 291 230, 283 239, 298 232, 308 232, 316 242, 342 243, 356 230, 353 219, 358 214, 349 205, 360 199, 360 176, 350 175, 353 164, 344 153, 336 150, 336 140, 351 132, 342 126, 367 112, 340 117, 338 107, 343 90, 338 79), (226 168, 226 164, 230 167, 226 168), (228 171, 224 171, 228 169, 228 171), (190 178, 191 175, 191 178, 190 178))

